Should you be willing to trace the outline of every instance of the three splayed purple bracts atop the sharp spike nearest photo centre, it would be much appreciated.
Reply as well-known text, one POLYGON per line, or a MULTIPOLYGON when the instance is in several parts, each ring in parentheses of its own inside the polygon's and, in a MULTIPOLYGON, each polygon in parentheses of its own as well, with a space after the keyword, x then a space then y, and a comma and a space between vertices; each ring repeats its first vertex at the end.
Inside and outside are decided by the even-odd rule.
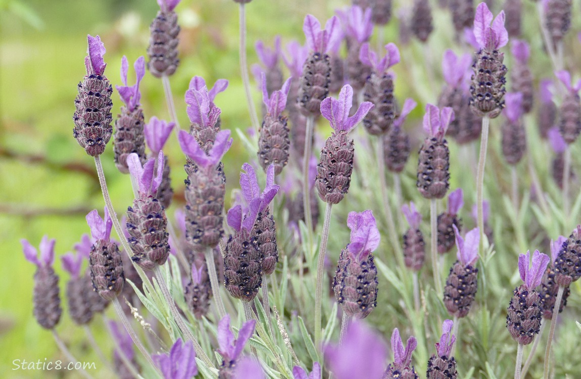
POLYGON ((364 101, 361 103, 357 112, 349 117, 349 110, 353 105, 353 88, 346 84, 339 92, 339 99, 328 98, 321 101, 321 115, 329 120, 331 127, 335 131, 345 130, 349 132, 352 130, 367 112, 374 107, 373 103, 364 101))

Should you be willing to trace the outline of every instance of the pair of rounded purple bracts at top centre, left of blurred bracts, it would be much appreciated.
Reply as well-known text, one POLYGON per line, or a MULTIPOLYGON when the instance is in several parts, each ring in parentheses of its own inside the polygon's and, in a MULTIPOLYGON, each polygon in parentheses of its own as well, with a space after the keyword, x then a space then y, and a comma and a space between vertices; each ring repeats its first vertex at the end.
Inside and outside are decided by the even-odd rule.
POLYGON ((336 49, 336 45, 343 39, 343 31, 339 18, 333 16, 325 23, 325 29, 321 30, 321 23, 317 17, 307 15, 304 17, 303 32, 307 40, 307 46, 314 52, 327 53, 336 49))

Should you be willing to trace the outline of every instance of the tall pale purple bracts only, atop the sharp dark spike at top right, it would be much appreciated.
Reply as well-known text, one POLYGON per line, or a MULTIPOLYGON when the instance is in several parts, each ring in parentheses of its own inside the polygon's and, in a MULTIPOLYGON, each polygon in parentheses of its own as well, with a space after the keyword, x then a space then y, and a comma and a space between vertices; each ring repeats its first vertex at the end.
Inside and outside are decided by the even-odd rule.
POLYGON ((508 32, 504 27, 504 10, 493 21, 493 14, 486 3, 480 3, 474 16, 474 37, 480 48, 500 49, 508 43, 508 32))

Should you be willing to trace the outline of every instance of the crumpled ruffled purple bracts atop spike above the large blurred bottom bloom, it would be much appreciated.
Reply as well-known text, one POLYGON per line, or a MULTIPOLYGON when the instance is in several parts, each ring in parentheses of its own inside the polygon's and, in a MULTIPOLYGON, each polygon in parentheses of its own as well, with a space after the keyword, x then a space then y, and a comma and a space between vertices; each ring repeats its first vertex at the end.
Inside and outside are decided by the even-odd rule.
POLYGON ((379 246, 381 239, 371 210, 349 212, 347 226, 351 229, 351 241, 347 249, 358 260, 366 259, 379 246))

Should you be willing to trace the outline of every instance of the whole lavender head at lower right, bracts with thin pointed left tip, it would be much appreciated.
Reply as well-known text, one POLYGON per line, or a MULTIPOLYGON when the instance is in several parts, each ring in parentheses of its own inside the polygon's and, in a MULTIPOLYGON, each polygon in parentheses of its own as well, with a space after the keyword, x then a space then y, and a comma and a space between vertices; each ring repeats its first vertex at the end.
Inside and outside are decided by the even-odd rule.
POLYGON ((465 317, 476 297, 478 289, 478 269, 475 267, 478 260, 478 244, 480 231, 474 228, 462 238, 460 231, 453 226, 456 234, 458 260, 450 269, 450 274, 444 287, 444 305, 450 316, 465 317))

